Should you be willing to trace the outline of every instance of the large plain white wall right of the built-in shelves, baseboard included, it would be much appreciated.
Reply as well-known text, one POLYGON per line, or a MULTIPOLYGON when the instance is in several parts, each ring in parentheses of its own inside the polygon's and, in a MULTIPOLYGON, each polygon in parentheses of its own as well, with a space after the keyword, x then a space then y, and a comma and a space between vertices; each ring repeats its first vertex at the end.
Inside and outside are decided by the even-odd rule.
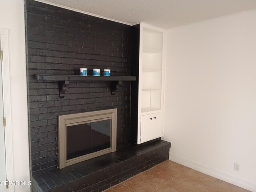
POLYGON ((256 191, 256 10, 170 29, 167 46, 170 159, 256 191))

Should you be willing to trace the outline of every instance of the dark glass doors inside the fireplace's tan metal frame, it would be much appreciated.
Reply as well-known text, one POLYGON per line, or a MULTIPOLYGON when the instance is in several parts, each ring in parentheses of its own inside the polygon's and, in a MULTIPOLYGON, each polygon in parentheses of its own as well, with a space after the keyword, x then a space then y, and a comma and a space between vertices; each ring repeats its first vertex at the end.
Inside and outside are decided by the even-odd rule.
POLYGON ((112 118, 66 125, 66 159, 111 148, 112 118))

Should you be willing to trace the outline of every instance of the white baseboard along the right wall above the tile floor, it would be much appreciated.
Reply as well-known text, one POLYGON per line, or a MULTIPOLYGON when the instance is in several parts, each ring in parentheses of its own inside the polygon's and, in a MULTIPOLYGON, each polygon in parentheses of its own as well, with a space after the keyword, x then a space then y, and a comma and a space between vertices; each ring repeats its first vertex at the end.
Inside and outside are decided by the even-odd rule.
POLYGON ((172 154, 170 154, 170 160, 182 164, 184 166, 187 166, 189 168, 192 168, 194 170, 200 171, 204 174, 208 174, 210 176, 213 176, 215 178, 218 178, 220 180, 226 181, 228 183, 231 183, 233 185, 242 187, 246 190, 250 190, 252 192, 256 192, 256 182, 244 179, 244 178, 239 178, 236 176, 233 176, 227 172, 194 162, 192 160, 186 159, 186 158, 182 158, 182 157, 178 157, 178 156, 174 156, 172 154))

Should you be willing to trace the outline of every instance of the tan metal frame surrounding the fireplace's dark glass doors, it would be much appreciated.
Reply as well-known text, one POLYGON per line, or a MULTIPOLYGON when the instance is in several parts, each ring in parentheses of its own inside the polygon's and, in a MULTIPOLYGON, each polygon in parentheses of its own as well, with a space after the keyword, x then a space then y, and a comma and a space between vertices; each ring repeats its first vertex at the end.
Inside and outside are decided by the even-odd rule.
POLYGON ((58 116, 58 137, 59 137, 59 168, 82 162, 100 155, 116 151, 116 118, 117 109, 108 109, 100 111, 92 111, 77 114, 68 114, 58 116), (111 129, 111 147, 83 156, 79 156, 67 160, 67 146, 66 146, 66 127, 74 124, 81 124, 86 122, 94 122, 95 120, 104 120, 112 118, 111 129))

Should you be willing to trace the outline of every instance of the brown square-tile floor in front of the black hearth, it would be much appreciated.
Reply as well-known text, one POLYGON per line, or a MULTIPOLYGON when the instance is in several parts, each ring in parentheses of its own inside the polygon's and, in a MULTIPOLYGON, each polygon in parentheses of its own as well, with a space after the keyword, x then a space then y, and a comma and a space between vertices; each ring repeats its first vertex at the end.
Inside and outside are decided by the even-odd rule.
POLYGON ((248 192, 248 190, 168 160, 105 192, 248 192))

